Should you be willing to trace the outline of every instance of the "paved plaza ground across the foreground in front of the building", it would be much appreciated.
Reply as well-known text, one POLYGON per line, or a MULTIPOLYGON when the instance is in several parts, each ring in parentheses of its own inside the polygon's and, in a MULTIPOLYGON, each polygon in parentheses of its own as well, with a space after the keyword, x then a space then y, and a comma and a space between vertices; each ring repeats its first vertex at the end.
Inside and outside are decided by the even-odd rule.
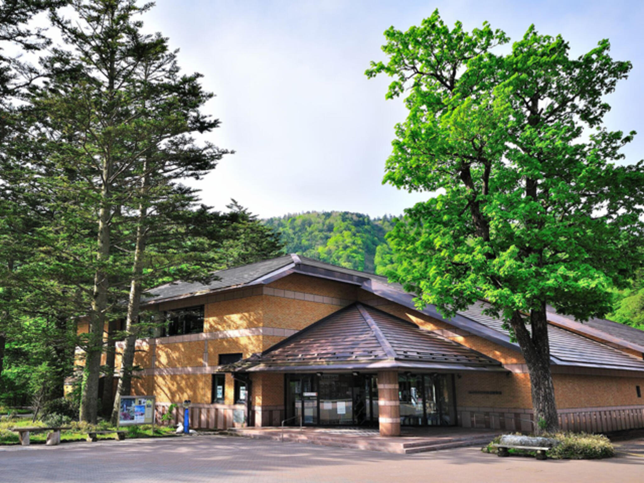
POLYGON ((0 448, 0 482, 641 482, 644 439, 603 461, 498 458, 479 448, 416 455, 194 436, 0 448))

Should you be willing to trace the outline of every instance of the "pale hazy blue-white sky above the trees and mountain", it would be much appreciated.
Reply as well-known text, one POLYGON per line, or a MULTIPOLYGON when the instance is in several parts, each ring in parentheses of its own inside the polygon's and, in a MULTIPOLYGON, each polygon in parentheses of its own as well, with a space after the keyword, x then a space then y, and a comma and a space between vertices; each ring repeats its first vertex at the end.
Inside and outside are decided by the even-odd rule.
POLYGON ((206 111, 222 120, 211 140, 234 149, 198 185, 224 209, 230 198, 261 217, 309 210, 400 214, 429 194, 382 185, 400 101, 385 100, 388 79, 368 80, 384 60, 383 32, 406 30, 439 8, 471 30, 489 21, 518 39, 531 23, 561 33, 574 55, 609 38, 615 59, 634 68, 609 97, 611 129, 641 135, 644 151, 643 1, 269 1, 157 0, 147 28, 180 49, 180 65, 204 74, 216 94, 206 111))

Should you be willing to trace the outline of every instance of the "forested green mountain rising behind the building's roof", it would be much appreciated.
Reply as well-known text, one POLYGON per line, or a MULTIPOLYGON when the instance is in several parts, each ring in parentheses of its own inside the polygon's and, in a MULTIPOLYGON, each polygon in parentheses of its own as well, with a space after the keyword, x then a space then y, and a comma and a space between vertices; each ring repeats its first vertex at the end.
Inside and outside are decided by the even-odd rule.
POLYGON ((393 217, 370 218, 348 211, 310 211, 264 220, 279 232, 288 253, 384 275, 391 249, 384 239, 393 217))

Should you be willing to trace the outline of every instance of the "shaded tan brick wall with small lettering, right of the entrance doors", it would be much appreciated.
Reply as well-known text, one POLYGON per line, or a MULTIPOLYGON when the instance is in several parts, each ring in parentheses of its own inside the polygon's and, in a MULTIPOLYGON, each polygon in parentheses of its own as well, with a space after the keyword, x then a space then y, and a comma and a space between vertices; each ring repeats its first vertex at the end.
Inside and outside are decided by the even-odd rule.
POLYGON ((460 372, 455 378, 459 407, 532 408, 528 374, 460 372), (470 391, 500 391, 500 394, 470 394, 470 391))

